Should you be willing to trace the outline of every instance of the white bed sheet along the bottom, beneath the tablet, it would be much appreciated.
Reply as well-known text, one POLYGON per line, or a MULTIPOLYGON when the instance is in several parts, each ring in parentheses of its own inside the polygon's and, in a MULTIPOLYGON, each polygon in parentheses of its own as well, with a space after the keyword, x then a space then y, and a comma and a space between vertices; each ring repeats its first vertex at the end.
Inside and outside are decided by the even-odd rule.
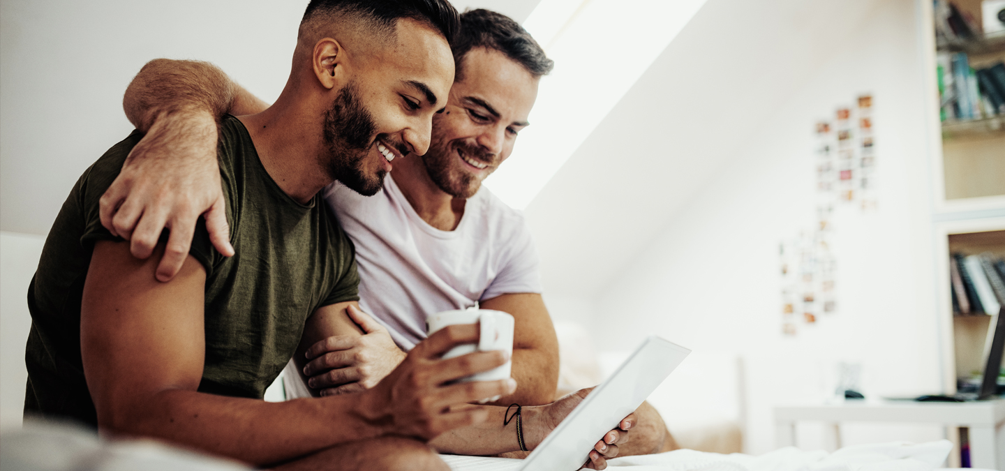
MULTIPOLYGON (((834 453, 802 451, 787 447, 761 456, 723 455, 694 450, 676 450, 658 455, 629 456, 608 461, 617 471, 931 471, 949 456, 953 444, 947 440, 913 444, 892 442, 855 445, 834 453)), ((476 456, 442 455, 453 471, 511 471, 520 460, 476 456)), ((560 470, 556 470, 560 471, 560 470)))

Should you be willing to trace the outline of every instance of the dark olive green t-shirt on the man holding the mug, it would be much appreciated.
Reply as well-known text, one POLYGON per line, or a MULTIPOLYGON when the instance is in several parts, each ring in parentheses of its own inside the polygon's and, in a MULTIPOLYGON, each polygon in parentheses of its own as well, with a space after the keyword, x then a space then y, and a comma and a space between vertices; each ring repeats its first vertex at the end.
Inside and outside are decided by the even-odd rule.
MULTIPOLYGON (((98 199, 142 138, 134 132, 83 173, 49 231, 28 288, 26 413, 97 423, 80 360, 80 298, 94 242, 122 240, 102 226, 98 199)), ((200 218, 189 252, 206 269, 199 391, 261 398, 307 318, 359 299, 355 251, 320 196, 301 205, 275 184, 236 117, 222 121, 218 159, 236 254, 220 255, 200 218)))

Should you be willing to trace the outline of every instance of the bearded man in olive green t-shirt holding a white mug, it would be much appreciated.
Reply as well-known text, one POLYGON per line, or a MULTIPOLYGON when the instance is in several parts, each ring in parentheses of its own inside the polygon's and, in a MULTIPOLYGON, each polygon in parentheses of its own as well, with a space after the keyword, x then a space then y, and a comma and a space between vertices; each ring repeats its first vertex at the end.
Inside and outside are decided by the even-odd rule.
MULTIPOLYGON (((508 360, 438 360, 475 341, 474 325, 431 335, 365 393, 260 398, 294 349, 351 322, 352 244, 318 192, 339 180, 373 194, 393 158, 425 153, 453 80, 456 22, 446 0, 311 2, 279 98, 221 125, 232 257, 214 251, 203 227, 187 253, 169 240, 157 257, 134 258, 103 228, 98 199, 143 137, 106 153, 63 204, 29 290, 26 412, 276 469, 446 469, 423 441, 483 421, 467 404, 516 389, 513 380, 452 384, 508 360), (184 263, 159 282, 165 252, 184 263)), ((167 126, 173 113, 188 113, 173 130, 216 133, 204 110, 147 123, 167 126)))

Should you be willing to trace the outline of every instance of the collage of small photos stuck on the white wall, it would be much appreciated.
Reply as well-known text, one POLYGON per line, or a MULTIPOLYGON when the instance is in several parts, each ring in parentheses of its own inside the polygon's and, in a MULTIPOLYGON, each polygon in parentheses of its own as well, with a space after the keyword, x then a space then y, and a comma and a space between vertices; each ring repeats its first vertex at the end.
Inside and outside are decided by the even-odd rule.
POLYGON ((818 122, 815 131, 816 222, 779 244, 786 335, 837 311, 837 261, 831 252, 835 208, 876 208, 872 95, 839 106, 834 119, 818 122))

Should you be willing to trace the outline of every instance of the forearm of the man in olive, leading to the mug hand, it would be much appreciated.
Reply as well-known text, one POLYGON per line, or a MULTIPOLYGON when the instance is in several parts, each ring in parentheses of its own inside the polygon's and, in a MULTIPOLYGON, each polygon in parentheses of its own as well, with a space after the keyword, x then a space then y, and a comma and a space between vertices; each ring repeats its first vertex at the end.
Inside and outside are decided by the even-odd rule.
POLYGON ((263 466, 383 435, 382 418, 367 412, 367 401, 359 394, 266 403, 169 390, 99 418, 99 425, 263 466))

